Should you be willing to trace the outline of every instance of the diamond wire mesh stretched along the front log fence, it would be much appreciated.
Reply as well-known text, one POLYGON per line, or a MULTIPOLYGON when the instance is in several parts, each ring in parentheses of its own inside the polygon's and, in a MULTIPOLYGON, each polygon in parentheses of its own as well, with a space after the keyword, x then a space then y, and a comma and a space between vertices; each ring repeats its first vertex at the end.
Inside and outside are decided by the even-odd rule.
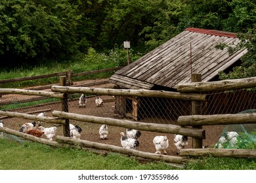
MULTIPOLYGON (((155 124, 177 124, 179 116, 192 115, 192 103, 182 99, 169 99, 162 97, 120 97, 114 95, 88 95, 85 107, 80 107, 79 97, 82 93, 72 93, 68 95, 68 106, 66 110, 75 114, 85 114, 89 116, 98 116, 104 118, 125 119, 131 121, 139 121, 155 124), (102 106, 97 106, 95 103, 96 97, 100 97, 103 101, 102 106)), ((45 111, 47 116, 52 116, 53 110, 62 110, 62 105, 59 99, 56 101, 47 101, 47 99, 39 96, 8 94, 1 98, 0 110, 11 112, 22 112, 28 114, 39 114, 45 111), (47 103, 41 103, 46 100, 47 103), (32 106, 26 106, 30 103, 32 106)), ((256 108, 256 93, 247 90, 233 90, 229 92, 211 92, 207 93, 207 101, 202 102, 202 114, 236 114, 243 110, 256 108)), ((18 130, 24 122, 21 118, 9 118, 1 116, 5 121, 5 126, 11 129, 18 130)), ((71 124, 79 125, 83 129, 81 139, 94 142, 104 142, 120 146, 121 131, 125 131, 124 127, 110 126, 110 137, 107 141, 100 141, 98 129, 100 124, 90 124, 70 120, 71 124)), ((54 124, 43 124, 52 126, 54 124)), ((206 139, 203 140, 204 145, 212 145, 217 142, 219 135, 223 132, 224 125, 203 126, 206 133, 206 139)), ((58 134, 62 135, 62 125, 58 125, 58 134)), ((143 131, 142 137, 149 139, 150 143, 140 141, 139 150, 146 152, 155 152, 152 139, 156 135, 167 135, 169 138, 170 148, 175 152, 173 145, 173 134, 160 134, 156 132, 143 131), (145 136, 146 135, 146 136, 145 136)), ((145 140, 143 140, 145 141, 145 140)), ((189 138, 187 148, 192 147, 192 138, 189 138)), ((167 154, 172 154, 167 152, 167 154)))

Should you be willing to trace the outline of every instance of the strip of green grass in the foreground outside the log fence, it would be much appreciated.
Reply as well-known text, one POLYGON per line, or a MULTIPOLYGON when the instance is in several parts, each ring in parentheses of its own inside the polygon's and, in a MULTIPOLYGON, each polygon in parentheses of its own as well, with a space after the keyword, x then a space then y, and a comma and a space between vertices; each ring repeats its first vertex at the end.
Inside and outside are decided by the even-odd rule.
MULTIPOLYGON (((100 156, 76 148, 53 148, 37 142, 0 139, 2 170, 178 170, 163 162, 140 163, 116 153, 100 156)), ((199 158, 184 170, 255 170, 254 158, 199 158)))

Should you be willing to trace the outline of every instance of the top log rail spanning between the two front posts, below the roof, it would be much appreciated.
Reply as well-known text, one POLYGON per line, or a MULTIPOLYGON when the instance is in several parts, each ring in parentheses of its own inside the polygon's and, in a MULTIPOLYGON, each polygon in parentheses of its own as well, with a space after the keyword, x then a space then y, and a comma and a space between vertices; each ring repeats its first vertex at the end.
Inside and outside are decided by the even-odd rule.
POLYGON ((70 86, 52 86, 53 92, 62 93, 89 93, 96 95, 119 95, 130 97, 166 97, 171 99, 184 99, 194 101, 205 101, 205 94, 196 93, 177 93, 166 92, 163 90, 117 90, 117 89, 105 89, 105 88, 87 88, 87 87, 70 87, 70 86))

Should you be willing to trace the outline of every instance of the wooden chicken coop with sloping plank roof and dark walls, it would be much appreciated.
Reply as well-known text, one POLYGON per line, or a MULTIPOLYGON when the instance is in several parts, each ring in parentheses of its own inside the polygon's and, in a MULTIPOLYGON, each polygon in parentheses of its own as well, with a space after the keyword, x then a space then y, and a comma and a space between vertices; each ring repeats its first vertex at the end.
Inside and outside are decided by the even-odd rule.
MULTIPOLYGON (((230 71, 246 54, 243 48, 233 54, 216 46, 237 44, 235 33, 187 28, 142 58, 111 76, 110 82, 121 89, 164 90, 177 92, 177 85, 191 82, 200 73, 202 82, 218 80, 219 71, 230 71)), ((207 93, 203 114, 237 113, 255 108, 255 92, 245 90, 207 93), (239 104, 239 107, 238 107, 239 104)), ((116 97, 116 113, 133 120, 148 117, 177 120, 192 113, 191 101, 161 97, 116 97)))

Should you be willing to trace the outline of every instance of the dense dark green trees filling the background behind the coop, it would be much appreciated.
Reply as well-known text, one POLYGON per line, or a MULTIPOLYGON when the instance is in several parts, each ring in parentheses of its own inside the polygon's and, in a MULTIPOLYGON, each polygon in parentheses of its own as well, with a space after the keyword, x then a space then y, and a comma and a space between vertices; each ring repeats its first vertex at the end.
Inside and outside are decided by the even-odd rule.
POLYGON ((127 40, 146 53, 186 27, 198 27, 243 33, 251 42, 244 44, 249 68, 256 55, 255 6, 255 0, 2 0, 1 65, 10 59, 14 64, 70 59, 127 40))

